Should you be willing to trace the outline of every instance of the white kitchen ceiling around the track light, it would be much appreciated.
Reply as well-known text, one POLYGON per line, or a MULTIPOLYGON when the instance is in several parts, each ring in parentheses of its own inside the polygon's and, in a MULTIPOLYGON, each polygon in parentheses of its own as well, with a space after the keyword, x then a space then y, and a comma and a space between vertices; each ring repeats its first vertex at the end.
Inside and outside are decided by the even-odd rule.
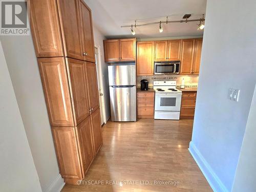
MULTIPOLYGON (((93 23, 107 38, 133 37, 130 28, 121 25, 181 20, 186 13, 189 19, 201 18, 205 13, 206 0, 84 0, 92 9, 93 23)), ((203 30, 197 30, 197 22, 162 24, 134 28, 137 38, 191 37, 202 36, 203 30)))

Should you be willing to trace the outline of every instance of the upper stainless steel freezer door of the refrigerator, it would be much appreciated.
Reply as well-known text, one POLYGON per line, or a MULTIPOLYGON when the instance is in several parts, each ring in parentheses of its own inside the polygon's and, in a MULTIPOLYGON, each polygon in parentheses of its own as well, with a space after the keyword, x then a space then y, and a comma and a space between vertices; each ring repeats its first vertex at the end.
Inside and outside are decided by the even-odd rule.
POLYGON ((135 86, 136 67, 109 66, 109 86, 135 86))

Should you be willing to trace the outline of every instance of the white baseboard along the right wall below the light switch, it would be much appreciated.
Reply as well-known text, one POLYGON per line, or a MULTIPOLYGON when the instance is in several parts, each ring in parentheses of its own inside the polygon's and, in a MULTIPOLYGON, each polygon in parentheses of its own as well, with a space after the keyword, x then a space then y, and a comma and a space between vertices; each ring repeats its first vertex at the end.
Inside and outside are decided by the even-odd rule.
POLYGON ((212 190, 215 192, 228 192, 220 178, 215 174, 214 170, 212 170, 202 154, 198 151, 193 141, 190 141, 188 150, 197 162, 197 165, 201 169, 212 190))

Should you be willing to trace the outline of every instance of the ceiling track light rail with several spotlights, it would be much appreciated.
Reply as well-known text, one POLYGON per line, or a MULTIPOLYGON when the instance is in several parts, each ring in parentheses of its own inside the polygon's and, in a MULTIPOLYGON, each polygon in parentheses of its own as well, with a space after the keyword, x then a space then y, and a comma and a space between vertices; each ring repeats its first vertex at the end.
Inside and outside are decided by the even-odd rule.
MULTIPOLYGON (((186 15, 190 16, 190 14, 186 14, 186 15)), ((204 28, 204 25, 201 24, 205 20, 204 14, 203 14, 202 18, 199 18, 199 19, 188 19, 189 16, 185 17, 185 15, 184 15, 183 18, 186 18, 186 19, 183 19, 183 20, 168 20, 168 17, 166 17, 166 20, 164 20, 164 21, 160 20, 160 22, 153 22, 153 23, 146 23, 146 24, 139 24, 139 25, 136 24, 137 20, 135 20, 135 25, 124 25, 124 26, 120 26, 120 27, 121 28, 131 27, 131 31, 132 31, 133 35, 135 35, 135 31, 133 30, 133 27, 136 28, 136 27, 149 26, 149 25, 159 25, 160 33, 163 31, 161 24, 199 22, 199 24, 197 24, 199 26, 199 29, 202 30, 204 28)))

